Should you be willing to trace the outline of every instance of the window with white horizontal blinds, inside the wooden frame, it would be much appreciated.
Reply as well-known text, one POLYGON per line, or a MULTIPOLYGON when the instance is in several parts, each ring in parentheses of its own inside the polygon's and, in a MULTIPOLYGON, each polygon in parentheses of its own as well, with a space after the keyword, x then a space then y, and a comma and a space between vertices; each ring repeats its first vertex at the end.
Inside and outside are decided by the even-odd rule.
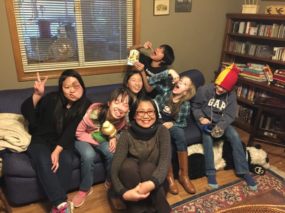
POLYGON ((132 0, 13 0, 23 72, 122 65, 132 0))

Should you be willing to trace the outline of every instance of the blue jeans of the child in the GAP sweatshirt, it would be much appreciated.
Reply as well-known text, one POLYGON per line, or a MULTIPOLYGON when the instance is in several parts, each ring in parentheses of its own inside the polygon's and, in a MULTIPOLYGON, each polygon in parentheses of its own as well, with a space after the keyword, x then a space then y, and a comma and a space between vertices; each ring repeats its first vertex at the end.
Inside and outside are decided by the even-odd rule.
MULTIPOLYGON (((196 122, 196 124, 202 130, 203 148, 206 163, 206 175, 216 175, 217 171, 215 169, 214 164, 213 137, 210 133, 203 130, 203 124, 201 124, 199 121, 196 122)), ((228 128, 225 130, 224 135, 228 138, 229 143, 231 143, 232 146, 232 155, 234 157, 236 173, 248 173, 248 162, 246 161, 246 155, 243 151, 243 145, 240 141, 240 135, 232 127, 232 125, 228 126, 228 128)))

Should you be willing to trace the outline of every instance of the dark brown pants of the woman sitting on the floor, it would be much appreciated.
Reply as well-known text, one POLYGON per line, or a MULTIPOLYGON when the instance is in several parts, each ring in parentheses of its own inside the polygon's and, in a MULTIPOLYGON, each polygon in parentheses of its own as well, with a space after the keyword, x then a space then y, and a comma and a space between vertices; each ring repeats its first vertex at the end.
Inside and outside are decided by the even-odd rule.
MULTIPOLYGON (((119 170, 119 178, 127 189, 135 188, 139 183, 148 181, 156 170, 156 166, 148 161, 137 162, 132 158, 126 158, 122 162, 119 170)), ((151 191, 148 196, 156 212, 169 213, 171 208, 166 200, 166 194, 169 188, 169 183, 165 179, 164 183, 160 185, 156 190, 151 191)), ((147 211, 146 200, 129 201, 129 207, 131 212, 142 213, 147 211)))

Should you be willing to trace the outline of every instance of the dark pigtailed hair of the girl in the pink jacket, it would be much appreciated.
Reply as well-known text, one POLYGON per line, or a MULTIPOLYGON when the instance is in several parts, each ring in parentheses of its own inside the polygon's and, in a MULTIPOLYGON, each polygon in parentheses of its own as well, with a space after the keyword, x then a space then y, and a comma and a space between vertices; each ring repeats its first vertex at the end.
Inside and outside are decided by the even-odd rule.
MULTIPOLYGON (((123 102, 126 99, 126 97, 129 97, 129 108, 131 108, 133 105, 133 102, 134 102, 133 97, 132 97, 132 94, 130 93, 129 89, 126 89, 124 87, 118 87, 117 89, 115 89, 110 94, 108 102, 111 103, 114 100, 118 101, 118 98, 120 96, 121 96, 121 100, 120 100, 121 102, 123 102)), ((107 116, 109 106, 108 106, 108 104, 101 104, 101 105, 97 106, 96 108, 94 108, 93 110, 96 110, 96 109, 100 109, 98 112, 98 118, 96 120, 93 120, 93 119, 91 119, 91 120, 93 122, 94 121, 98 122, 99 125, 102 127, 102 124, 106 121, 106 116, 107 116)))

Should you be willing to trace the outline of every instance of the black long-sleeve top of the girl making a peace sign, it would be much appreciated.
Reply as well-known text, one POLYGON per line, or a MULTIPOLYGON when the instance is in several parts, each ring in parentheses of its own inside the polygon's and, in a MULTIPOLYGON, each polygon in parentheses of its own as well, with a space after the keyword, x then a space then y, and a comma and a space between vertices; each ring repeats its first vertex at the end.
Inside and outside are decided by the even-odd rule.
POLYGON ((63 130, 61 137, 56 139, 56 129, 53 122, 53 113, 56 109, 59 94, 52 92, 43 96, 34 108, 33 96, 26 99, 21 106, 21 113, 29 121, 29 133, 32 135, 31 143, 39 143, 48 146, 52 149, 53 145, 61 146, 64 149, 74 149, 75 144, 75 131, 78 124, 82 120, 84 113, 90 106, 90 101, 87 100, 84 106, 84 113, 79 114, 75 120, 66 124, 65 116, 69 109, 63 108, 63 130))

